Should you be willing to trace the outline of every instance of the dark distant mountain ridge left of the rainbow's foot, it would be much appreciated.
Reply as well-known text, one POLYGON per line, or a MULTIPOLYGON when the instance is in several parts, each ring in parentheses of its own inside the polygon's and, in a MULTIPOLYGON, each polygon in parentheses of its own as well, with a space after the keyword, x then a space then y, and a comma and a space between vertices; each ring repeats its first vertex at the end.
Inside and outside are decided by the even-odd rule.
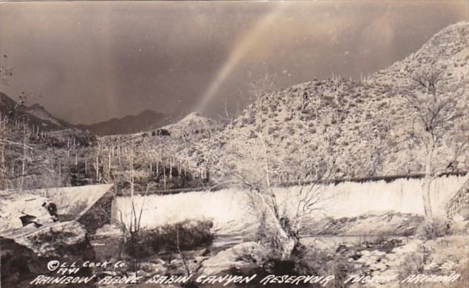
POLYGON ((104 136, 116 134, 132 134, 136 132, 149 131, 171 123, 172 117, 153 110, 144 110, 138 115, 129 115, 120 119, 113 118, 91 125, 77 125, 81 130, 104 136))

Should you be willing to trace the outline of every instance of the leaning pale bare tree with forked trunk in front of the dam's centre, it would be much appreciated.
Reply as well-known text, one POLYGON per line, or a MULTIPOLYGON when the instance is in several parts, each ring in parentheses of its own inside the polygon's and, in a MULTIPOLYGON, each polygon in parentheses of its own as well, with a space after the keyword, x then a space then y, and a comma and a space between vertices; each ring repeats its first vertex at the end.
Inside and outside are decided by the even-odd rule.
MULTIPOLYGON (((285 159, 276 154, 272 139, 261 132, 239 135, 237 141, 231 141, 223 149, 223 156, 212 151, 213 161, 226 171, 226 182, 237 183, 243 187, 248 197, 251 211, 256 211, 259 221, 268 233, 263 244, 270 250, 274 259, 287 261, 300 244, 300 231, 305 220, 313 217, 325 204, 323 182, 312 183, 307 175, 322 175, 329 178, 330 173, 311 173, 310 167, 298 167, 296 191, 292 191, 294 200, 278 200, 274 191, 274 174, 285 159), (290 205, 289 205, 290 204, 290 205)), ((319 171, 319 169, 316 169, 319 171)))

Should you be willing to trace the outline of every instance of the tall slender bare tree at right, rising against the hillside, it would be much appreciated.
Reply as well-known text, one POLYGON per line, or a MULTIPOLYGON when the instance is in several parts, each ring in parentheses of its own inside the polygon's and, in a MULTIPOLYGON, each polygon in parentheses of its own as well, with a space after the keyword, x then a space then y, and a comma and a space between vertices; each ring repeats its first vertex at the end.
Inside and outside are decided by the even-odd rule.
POLYGON ((441 69, 422 69, 411 75, 415 86, 412 90, 406 91, 407 103, 421 126, 420 132, 415 135, 421 138, 426 152, 422 199, 427 219, 433 215, 430 186, 437 176, 435 171, 437 146, 451 138, 454 134, 453 122, 463 116, 460 89, 446 88, 444 91, 441 84, 442 73, 441 69))

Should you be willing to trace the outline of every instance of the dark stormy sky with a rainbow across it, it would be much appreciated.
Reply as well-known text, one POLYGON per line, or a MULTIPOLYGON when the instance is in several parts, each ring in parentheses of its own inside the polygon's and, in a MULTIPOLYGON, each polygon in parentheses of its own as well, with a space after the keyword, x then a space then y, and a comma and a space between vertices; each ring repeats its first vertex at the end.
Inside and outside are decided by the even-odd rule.
POLYGON ((360 79, 463 20, 469 1, 0 2, 0 91, 70 123, 234 115, 261 79, 360 79))

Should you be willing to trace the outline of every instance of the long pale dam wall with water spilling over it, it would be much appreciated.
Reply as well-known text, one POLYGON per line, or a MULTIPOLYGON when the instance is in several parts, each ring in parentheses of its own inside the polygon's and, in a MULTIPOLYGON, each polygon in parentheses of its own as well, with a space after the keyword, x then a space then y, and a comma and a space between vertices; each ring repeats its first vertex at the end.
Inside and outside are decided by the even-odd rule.
MULTIPOLYGON (((432 182, 430 197, 435 216, 446 215, 445 205, 469 176, 442 176, 432 182)), ((390 211, 424 214, 423 179, 397 178, 391 181, 345 181, 318 187, 320 201, 314 217, 354 217, 364 214, 384 214, 390 211)), ((309 187, 303 187, 307 189, 309 187)), ((274 189, 276 200, 285 211, 294 211, 301 187, 274 189)), ((135 195, 135 210, 142 211, 141 225, 153 228, 186 219, 212 219, 215 228, 238 230, 254 225, 246 191, 223 189, 215 192, 194 191, 173 195, 135 195)), ((130 221, 131 198, 116 197, 111 219, 130 221)))

